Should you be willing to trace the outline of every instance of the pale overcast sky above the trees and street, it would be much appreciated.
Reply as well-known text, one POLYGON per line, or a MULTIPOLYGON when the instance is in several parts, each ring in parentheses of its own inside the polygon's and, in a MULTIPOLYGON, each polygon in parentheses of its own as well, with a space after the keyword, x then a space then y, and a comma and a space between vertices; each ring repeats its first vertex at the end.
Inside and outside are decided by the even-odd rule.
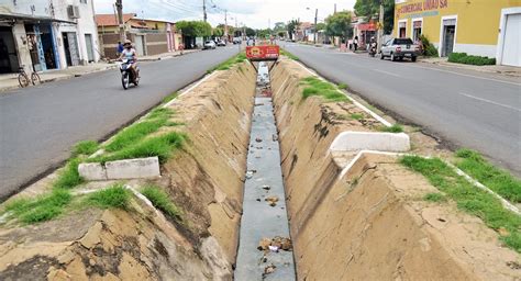
MULTIPOLYGON (((136 13, 137 16, 180 21, 202 20, 203 0, 123 0, 123 12, 136 13)), ((314 9, 319 9, 319 22, 336 10, 353 10, 355 0, 206 0, 209 22, 215 26, 224 23, 224 11, 229 12, 229 24, 244 23, 255 29, 271 27, 276 22, 288 22, 300 18, 300 21, 314 21, 314 9), (212 8, 212 7, 215 8, 212 8), (310 8, 309 10, 307 8, 310 8)), ((113 13, 114 0, 95 0, 97 13, 113 13)))

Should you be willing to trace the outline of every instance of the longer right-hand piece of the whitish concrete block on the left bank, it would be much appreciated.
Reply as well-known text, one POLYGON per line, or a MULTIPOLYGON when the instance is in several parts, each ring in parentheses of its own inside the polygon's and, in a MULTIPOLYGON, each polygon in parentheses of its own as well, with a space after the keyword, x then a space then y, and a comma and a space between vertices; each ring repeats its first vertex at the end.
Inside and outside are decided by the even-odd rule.
POLYGON ((106 164, 109 180, 142 179, 159 177, 157 157, 109 161, 106 164))

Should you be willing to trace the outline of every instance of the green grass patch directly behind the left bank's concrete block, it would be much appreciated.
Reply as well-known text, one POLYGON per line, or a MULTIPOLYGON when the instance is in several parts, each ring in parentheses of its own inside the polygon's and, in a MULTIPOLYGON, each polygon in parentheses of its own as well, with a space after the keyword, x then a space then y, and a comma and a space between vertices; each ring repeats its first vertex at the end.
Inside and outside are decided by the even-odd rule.
POLYGON ((137 143, 132 143, 124 148, 109 155, 102 155, 88 159, 93 162, 107 162, 122 159, 154 157, 159 158, 159 162, 165 162, 171 153, 182 147, 187 139, 186 135, 177 132, 148 137, 137 143))

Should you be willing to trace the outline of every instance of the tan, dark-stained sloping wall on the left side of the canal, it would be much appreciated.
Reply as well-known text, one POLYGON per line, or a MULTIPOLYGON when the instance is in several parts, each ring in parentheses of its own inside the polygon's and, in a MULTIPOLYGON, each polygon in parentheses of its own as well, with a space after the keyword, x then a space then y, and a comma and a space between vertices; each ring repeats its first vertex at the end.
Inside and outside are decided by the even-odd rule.
POLYGON ((130 211, 87 209, 3 226, 0 280, 231 280, 255 79, 254 68, 240 64, 171 103, 171 121, 189 140, 154 183, 181 221, 134 199, 130 211))

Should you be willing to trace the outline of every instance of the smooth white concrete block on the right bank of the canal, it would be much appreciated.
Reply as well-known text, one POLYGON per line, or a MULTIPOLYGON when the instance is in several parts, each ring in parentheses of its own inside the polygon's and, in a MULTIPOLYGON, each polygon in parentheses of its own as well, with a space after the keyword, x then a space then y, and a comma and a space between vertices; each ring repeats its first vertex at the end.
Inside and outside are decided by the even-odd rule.
POLYGON ((406 133, 342 132, 330 146, 332 151, 379 150, 403 153, 411 149, 406 133))

